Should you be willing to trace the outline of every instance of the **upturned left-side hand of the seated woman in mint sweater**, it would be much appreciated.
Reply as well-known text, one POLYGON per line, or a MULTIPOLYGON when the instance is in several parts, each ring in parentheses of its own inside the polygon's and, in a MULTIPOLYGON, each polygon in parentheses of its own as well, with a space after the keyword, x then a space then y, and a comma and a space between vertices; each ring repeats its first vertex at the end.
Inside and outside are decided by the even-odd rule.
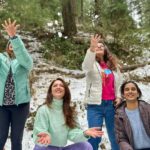
POLYGON ((47 133, 41 132, 37 136, 39 137, 37 140, 38 143, 44 144, 44 145, 48 145, 51 143, 51 138, 47 133))

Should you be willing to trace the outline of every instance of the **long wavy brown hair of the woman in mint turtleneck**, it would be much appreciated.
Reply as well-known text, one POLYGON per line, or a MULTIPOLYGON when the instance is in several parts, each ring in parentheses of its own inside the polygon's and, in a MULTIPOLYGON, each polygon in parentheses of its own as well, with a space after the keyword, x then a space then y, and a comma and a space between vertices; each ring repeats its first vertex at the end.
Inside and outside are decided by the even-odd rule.
POLYGON ((63 113, 64 113, 64 117, 65 117, 65 123, 68 127, 75 128, 76 127, 75 108, 70 106, 70 104, 71 104, 71 93, 70 93, 70 90, 69 90, 67 83, 63 79, 57 78, 51 82, 51 84, 48 88, 45 104, 48 107, 51 107, 51 104, 53 102, 52 86, 55 83, 55 81, 57 81, 57 80, 59 80, 63 83, 64 89, 65 89, 65 94, 63 97, 63 113))

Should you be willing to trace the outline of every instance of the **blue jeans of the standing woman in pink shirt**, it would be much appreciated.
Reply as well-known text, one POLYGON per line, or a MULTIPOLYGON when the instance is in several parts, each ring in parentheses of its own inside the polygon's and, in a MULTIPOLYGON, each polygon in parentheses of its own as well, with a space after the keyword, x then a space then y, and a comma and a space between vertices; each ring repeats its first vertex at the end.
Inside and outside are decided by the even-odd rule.
MULTIPOLYGON (((113 101, 111 100, 102 100, 101 105, 88 104, 87 106, 87 119, 89 128, 101 127, 103 125, 103 119, 105 119, 106 129, 108 132, 109 141, 111 143, 111 149, 119 150, 119 146, 115 138, 114 115, 115 109, 113 106, 113 101)), ((101 138, 90 138, 88 141, 93 146, 93 150, 98 150, 101 138)))

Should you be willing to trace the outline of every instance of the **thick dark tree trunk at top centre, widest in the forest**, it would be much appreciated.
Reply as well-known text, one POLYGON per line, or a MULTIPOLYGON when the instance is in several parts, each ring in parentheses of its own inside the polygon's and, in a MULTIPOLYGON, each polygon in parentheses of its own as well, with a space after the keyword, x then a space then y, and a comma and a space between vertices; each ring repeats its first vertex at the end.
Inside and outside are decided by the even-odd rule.
POLYGON ((62 0, 64 34, 67 36, 72 36, 77 33, 75 10, 75 0, 62 0))

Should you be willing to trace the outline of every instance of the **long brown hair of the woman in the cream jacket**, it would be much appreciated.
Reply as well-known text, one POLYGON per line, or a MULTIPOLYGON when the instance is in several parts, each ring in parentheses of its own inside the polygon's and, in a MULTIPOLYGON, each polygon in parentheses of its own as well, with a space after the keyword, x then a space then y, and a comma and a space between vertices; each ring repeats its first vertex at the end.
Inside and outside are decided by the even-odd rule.
MULTIPOLYGON (((104 62, 108 65, 109 69, 116 70, 119 66, 117 57, 109 51, 107 45, 103 41, 100 41, 99 43, 104 45, 104 62)), ((96 60, 99 61, 97 58, 96 60)))

